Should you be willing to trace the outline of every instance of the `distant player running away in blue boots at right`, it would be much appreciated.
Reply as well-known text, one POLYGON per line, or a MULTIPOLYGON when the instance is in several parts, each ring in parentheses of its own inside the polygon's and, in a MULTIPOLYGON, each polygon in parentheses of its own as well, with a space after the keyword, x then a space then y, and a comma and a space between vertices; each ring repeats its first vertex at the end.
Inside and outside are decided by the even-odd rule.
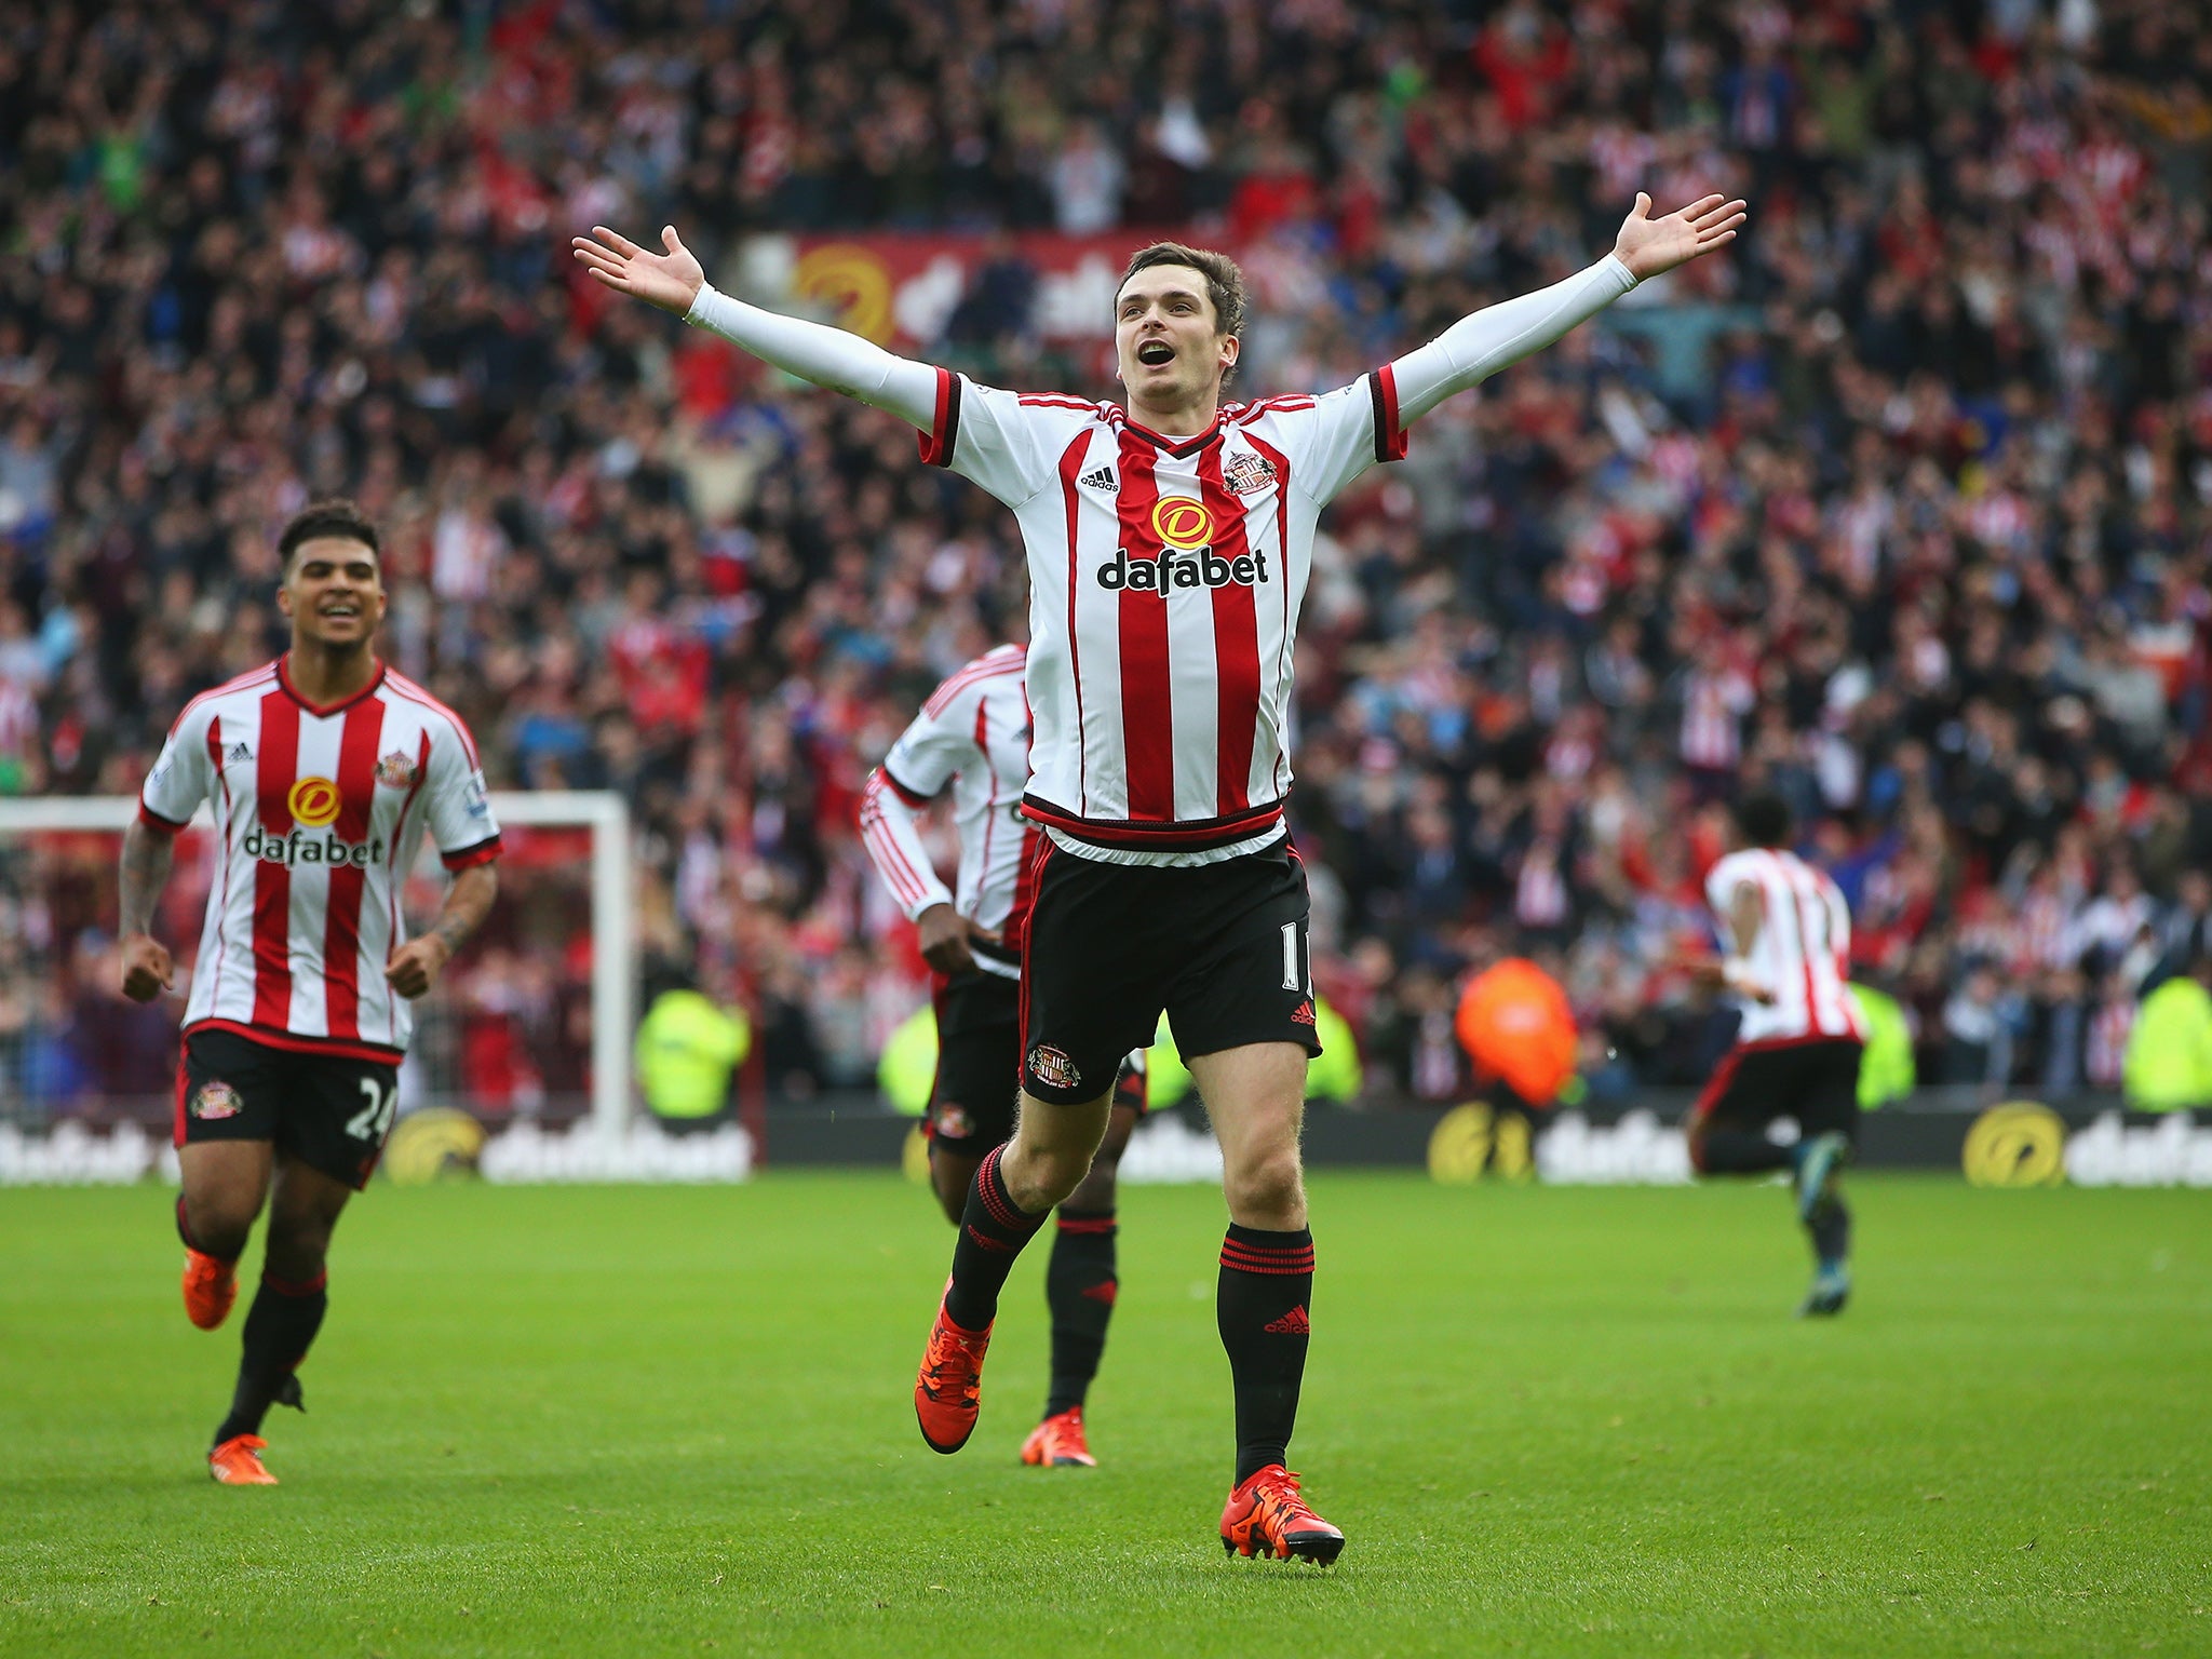
POLYGON ((1781 796, 1739 801, 1736 838, 1739 849, 1705 876, 1728 940, 1708 978, 1743 1000, 1743 1026, 1690 1113, 1690 1164, 1701 1175, 1787 1168, 1816 1263, 1798 1314, 1840 1314, 1851 1294, 1851 1212, 1838 1175, 1858 1144, 1867 1040, 1847 989, 1851 911, 1827 872, 1787 852, 1781 796), (1767 1139, 1778 1117, 1798 1124, 1792 1146, 1767 1139))

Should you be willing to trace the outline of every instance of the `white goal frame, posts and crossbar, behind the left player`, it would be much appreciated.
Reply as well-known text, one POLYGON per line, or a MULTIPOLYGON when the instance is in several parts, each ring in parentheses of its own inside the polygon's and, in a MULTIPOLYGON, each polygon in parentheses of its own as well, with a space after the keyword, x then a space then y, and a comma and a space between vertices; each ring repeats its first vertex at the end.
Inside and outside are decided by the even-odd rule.
MULTIPOLYGON (((613 790, 495 790, 491 812, 502 827, 591 832, 591 1119, 602 1137, 619 1139, 630 1121, 630 1040, 637 1031, 630 807, 613 790)), ((40 834, 122 836, 135 818, 133 794, 0 799, 0 847, 40 834)), ((188 827, 212 827, 206 805, 188 827)), ((173 945, 197 945, 197 929, 173 945)))

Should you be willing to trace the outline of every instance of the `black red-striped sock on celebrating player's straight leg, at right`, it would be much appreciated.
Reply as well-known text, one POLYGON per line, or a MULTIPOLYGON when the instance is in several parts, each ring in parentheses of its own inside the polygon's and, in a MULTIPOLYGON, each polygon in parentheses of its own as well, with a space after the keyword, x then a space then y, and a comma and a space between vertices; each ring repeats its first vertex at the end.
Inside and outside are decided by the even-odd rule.
POLYGON ((1314 1234, 1230 1223, 1221 1241, 1214 1316, 1237 1385, 1237 1484, 1290 1453, 1305 1380, 1307 1307, 1314 1301, 1314 1234))

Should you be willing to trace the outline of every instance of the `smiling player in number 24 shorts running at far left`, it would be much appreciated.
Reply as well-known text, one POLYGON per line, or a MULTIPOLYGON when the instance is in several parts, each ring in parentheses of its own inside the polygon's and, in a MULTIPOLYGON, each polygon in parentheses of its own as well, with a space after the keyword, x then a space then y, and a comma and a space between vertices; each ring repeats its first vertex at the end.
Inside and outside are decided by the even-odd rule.
POLYGON ((484 920, 500 856, 469 728, 376 659, 376 526, 352 502, 319 502, 276 546, 292 648, 186 706, 122 858, 122 989, 153 1002, 175 982, 153 938, 175 836, 215 807, 177 1066, 177 1232, 184 1312, 215 1329, 268 1203, 239 1383, 208 1451, 219 1482, 248 1486, 276 1484, 261 1418, 305 1409, 294 1369, 323 1325, 330 1232, 392 1128, 407 1002, 484 920), (425 834, 453 885, 434 927, 405 938, 400 885, 425 834))

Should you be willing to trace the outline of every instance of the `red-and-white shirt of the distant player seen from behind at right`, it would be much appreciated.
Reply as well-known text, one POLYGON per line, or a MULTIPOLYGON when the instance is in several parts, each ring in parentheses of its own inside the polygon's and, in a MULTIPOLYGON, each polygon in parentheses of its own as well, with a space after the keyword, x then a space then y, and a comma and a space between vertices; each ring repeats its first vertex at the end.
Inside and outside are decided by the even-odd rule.
POLYGON ((1843 889, 1825 869, 1814 869, 1794 852, 1774 847, 1732 852, 1705 876, 1705 900, 1721 918, 1723 938, 1736 889, 1745 883, 1765 900, 1747 962, 1772 1000, 1743 1000, 1736 1044, 1759 1048, 1818 1037, 1865 1042, 1858 1004, 1845 989, 1851 909, 1843 902, 1843 889))

